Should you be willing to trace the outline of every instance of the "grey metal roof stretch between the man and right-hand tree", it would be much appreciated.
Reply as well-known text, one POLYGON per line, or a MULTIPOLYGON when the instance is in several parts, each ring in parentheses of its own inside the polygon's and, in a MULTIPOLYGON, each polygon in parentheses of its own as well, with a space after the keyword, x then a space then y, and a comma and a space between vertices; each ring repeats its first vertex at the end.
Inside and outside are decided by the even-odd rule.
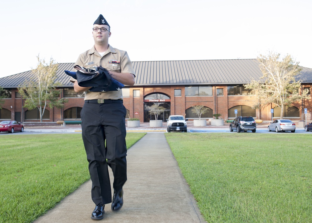
POLYGON ((136 85, 243 84, 262 77, 256 59, 132 62, 136 85))

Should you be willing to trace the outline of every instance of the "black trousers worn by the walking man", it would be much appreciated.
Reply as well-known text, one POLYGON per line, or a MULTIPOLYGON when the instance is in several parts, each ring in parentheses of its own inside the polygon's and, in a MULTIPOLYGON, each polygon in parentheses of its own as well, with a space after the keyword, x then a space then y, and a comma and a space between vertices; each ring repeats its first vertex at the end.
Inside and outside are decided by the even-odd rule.
POLYGON ((80 113, 95 205, 112 202, 108 166, 114 174, 115 190, 120 190, 127 180, 126 109, 122 100, 115 101, 103 104, 86 101, 80 113))

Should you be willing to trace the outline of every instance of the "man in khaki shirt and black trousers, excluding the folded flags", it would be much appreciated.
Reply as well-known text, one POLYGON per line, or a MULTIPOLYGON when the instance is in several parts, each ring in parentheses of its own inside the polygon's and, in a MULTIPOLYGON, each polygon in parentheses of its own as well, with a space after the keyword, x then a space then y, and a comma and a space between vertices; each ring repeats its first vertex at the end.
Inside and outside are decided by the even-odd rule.
MULTIPOLYGON (((102 66, 115 80, 133 86, 135 75, 128 54, 108 44, 110 25, 102 15, 95 20, 92 35, 94 46, 80 54, 75 65, 85 68, 102 66)), ((123 205, 122 187, 127 180, 126 109, 121 89, 91 92, 91 87, 80 87, 76 79, 71 78, 71 82, 75 92, 85 92, 81 128, 92 181, 91 197, 95 203, 91 218, 100 220, 104 216, 105 204, 112 202, 113 211, 123 205), (114 174, 113 199, 108 166, 114 174)))

